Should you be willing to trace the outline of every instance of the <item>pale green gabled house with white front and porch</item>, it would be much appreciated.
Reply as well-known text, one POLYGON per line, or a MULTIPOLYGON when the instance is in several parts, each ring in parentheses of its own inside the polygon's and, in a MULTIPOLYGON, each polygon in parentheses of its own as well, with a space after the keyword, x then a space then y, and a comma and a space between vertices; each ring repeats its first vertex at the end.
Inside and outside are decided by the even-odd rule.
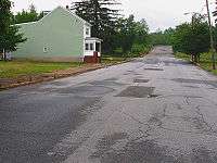
POLYGON ((68 9, 59 7, 38 22, 17 25, 27 41, 13 52, 15 59, 69 62, 101 55, 101 39, 91 37, 91 24, 68 9))

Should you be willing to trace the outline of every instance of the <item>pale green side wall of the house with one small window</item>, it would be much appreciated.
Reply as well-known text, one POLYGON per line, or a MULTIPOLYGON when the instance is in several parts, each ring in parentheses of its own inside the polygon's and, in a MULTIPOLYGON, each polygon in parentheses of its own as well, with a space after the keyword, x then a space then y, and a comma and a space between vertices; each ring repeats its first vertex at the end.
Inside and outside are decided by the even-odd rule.
POLYGON ((62 8, 36 23, 21 24, 27 41, 18 45, 15 58, 84 58, 84 22, 62 8))

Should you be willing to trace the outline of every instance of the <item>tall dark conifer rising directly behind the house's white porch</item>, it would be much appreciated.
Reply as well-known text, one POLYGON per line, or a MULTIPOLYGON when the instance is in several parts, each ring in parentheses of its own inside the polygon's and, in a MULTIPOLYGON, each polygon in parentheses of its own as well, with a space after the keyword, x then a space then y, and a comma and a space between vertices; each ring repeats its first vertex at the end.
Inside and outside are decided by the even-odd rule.
POLYGON ((115 0, 82 0, 74 2, 72 10, 92 25, 92 36, 103 39, 103 51, 114 47, 114 35, 118 11, 111 9, 119 4, 115 0))

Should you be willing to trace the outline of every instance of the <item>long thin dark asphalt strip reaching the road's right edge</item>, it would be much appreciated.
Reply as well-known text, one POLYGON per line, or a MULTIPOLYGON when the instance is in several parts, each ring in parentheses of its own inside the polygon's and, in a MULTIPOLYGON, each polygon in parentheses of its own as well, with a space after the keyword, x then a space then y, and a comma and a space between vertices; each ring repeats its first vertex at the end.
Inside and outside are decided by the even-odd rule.
POLYGON ((174 78, 171 80, 181 84, 201 84, 217 88, 217 80, 203 80, 203 79, 189 79, 189 78, 174 78))

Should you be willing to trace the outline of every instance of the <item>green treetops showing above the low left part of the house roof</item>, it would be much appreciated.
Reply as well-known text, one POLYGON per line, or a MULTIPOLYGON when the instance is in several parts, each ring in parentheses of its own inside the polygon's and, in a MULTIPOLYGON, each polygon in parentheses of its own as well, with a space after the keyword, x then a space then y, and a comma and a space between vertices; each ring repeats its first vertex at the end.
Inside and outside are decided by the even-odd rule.
POLYGON ((36 22, 42 17, 42 13, 37 13, 36 7, 31 4, 29 7, 28 11, 23 10, 22 12, 18 12, 14 16, 14 23, 28 23, 28 22, 36 22))

